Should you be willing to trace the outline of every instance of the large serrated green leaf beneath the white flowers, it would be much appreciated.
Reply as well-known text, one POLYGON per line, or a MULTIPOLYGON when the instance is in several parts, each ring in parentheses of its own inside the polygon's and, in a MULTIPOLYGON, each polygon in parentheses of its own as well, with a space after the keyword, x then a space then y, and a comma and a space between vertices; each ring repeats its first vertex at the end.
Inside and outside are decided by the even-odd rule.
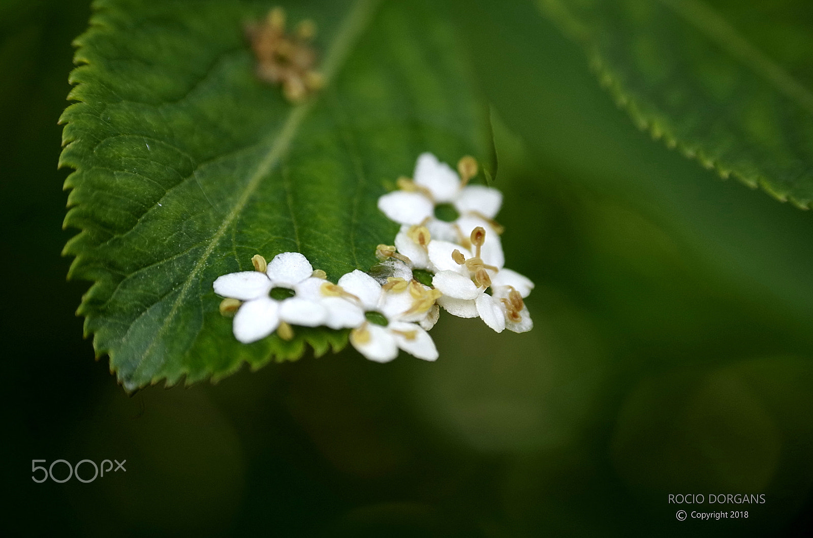
POLYGON ((489 154, 487 109, 431 4, 290 4, 290 23, 320 28, 326 80, 298 106, 254 77, 243 36, 272 4, 104 0, 76 40, 60 165, 76 168, 65 226, 81 231, 65 254, 93 280, 85 333, 128 390, 341 349, 346 332, 321 328, 239 344, 212 282, 285 251, 333 281, 366 270, 397 231, 376 208, 386 182, 422 151, 489 154))

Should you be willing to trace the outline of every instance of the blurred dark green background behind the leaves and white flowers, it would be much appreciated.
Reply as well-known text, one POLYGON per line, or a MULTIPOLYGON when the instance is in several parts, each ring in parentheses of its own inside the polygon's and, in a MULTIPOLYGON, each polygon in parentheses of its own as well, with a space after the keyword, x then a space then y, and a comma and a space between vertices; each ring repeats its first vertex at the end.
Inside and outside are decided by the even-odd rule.
POLYGON ((56 119, 89 8, 0 4, 3 535, 810 527, 813 215, 638 132, 532 7, 449 9, 493 102, 506 257, 537 282, 533 332, 444 316, 434 364, 350 350, 128 397, 81 339, 87 284, 66 284, 59 256, 73 231, 56 119), (34 484, 34 458, 127 472, 34 484), (702 523, 667 503, 712 492, 766 503, 702 523))

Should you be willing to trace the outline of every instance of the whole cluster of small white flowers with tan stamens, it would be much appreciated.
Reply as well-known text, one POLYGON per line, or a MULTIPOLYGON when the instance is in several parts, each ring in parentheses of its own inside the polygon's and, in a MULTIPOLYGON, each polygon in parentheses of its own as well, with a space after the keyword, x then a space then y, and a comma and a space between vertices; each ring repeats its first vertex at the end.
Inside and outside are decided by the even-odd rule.
POLYGON ((290 339, 291 325, 350 328, 355 349, 388 362, 398 349, 437 359, 428 331, 439 307, 461 318, 479 317, 496 332, 531 330, 523 299, 533 282, 504 267, 502 227, 494 221, 502 193, 468 184, 476 173, 471 157, 460 159, 455 172, 424 153, 414 179, 399 179, 398 190, 379 198, 379 209, 401 224, 394 245, 376 249, 383 276, 355 270, 333 284, 296 252, 277 254, 271 262, 258 254, 254 271, 220 276, 214 289, 226 297, 220 312, 234 314, 234 336, 248 344, 274 331, 290 339))

